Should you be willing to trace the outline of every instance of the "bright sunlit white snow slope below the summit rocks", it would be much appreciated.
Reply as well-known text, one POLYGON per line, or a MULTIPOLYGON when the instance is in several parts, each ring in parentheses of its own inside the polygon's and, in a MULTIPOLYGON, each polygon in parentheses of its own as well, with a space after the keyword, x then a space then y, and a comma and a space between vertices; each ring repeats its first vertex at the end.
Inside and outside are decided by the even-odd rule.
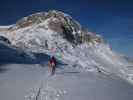
POLYGON ((7 37, 14 46, 22 44, 21 48, 23 49, 55 55, 59 60, 69 61, 72 66, 79 67, 82 70, 115 74, 133 83, 133 70, 131 70, 133 63, 112 51, 108 44, 94 42, 73 47, 59 33, 49 28, 49 20, 52 19, 7 32, 6 34, 1 33, 1 35, 7 37), (48 49, 44 48, 46 40, 48 49))

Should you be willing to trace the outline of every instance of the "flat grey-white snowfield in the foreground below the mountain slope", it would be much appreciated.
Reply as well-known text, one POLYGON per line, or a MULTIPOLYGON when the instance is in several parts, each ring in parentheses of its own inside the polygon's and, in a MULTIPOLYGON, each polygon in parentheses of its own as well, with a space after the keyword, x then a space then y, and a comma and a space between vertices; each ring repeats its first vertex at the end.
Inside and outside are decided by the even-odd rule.
POLYGON ((133 86, 119 77, 81 72, 70 66, 53 76, 38 64, 3 65, 1 100, 131 100, 133 86))

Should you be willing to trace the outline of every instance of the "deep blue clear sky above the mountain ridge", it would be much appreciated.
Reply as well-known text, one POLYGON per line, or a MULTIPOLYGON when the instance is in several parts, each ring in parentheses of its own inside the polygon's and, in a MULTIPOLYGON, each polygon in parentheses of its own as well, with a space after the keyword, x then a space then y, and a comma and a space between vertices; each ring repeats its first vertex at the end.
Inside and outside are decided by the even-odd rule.
POLYGON ((0 0, 0 25, 29 14, 61 10, 101 34, 120 53, 133 57, 132 0, 0 0))

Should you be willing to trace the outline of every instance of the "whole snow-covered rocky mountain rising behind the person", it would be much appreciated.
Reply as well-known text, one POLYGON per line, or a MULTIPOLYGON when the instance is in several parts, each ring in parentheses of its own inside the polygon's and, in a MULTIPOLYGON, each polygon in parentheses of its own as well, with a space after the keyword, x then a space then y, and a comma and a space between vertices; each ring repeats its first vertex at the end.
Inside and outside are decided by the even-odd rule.
POLYGON ((133 64, 112 51, 101 36, 63 12, 52 10, 29 15, 0 35, 22 50, 55 55, 81 71, 116 75, 133 83, 133 64))

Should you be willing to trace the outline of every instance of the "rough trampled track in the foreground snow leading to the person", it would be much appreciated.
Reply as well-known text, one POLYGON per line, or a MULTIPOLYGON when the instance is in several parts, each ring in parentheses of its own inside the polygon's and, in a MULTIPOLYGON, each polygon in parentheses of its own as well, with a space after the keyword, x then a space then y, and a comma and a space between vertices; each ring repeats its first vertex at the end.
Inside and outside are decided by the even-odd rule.
POLYGON ((25 96, 25 99, 26 100, 60 100, 59 98, 65 95, 66 91, 50 86, 49 83, 54 77, 56 77, 56 74, 50 75, 50 73, 46 71, 45 75, 42 77, 39 84, 30 90, 30 94, 25 96))

